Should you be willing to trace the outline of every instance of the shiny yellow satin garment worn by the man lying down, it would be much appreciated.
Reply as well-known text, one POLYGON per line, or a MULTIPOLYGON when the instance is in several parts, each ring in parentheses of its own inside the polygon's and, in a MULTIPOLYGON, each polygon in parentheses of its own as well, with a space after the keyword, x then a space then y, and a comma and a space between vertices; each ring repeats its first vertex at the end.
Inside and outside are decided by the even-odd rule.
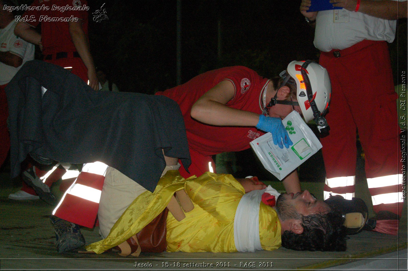
MULTIPOLYGON (((207 172, 186 180, 178 171, 164 175, 153 193, 137 197, 112 227, 108 237, 86 247, 102 253, 121 244, 149 224, 169 203, 174 192, 185 189, 194 209, 177 221, 167 216, 167 251, 235 252, 234 217, 244 188, 229 174, 207 172)), ((259 236, 262 248, 274 250, 281 246, 281 225, 275 210, 260 203, 259 236)))

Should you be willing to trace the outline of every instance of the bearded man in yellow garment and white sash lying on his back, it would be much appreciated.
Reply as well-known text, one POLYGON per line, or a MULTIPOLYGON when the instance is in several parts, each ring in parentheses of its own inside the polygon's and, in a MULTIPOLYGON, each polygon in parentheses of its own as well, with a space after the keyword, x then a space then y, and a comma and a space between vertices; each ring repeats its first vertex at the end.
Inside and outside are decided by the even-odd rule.
POLYGON ((138 196, 109 235, 86 249, 102 253, 117 246, 122 256, 160 252, 144 247, 145 239, 159 235, 162 238, 156 248, 169 252, 244 252, 281 246, 310 251, 346 250, 344 218, 307 190, 279 194, 268 186, 245 193, 241 183, 230 174, 207 172, 185 180, 177 171, 168 171, 155 192, 138 196), (177 221, 171 213, 165 217, 165 207, 180 190, 191 199, 193 209, 177 221), (146 233, 149 223, 159 215, 166 226, 162 227, 164 233, 146 233), (138 234, 141 231, 142 236, 138 234))

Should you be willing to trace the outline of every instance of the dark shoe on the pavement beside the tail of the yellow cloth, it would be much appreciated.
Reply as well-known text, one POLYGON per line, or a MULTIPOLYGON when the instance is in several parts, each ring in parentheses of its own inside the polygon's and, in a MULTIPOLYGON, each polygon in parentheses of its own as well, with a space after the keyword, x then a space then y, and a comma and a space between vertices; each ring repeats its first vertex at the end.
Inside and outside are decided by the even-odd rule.
POLYGON ((78 225, 56 216, 51 216, 51 223, 57 238, 55 244, 58 253, 68 252, 85 245, 85 238, 78 225))

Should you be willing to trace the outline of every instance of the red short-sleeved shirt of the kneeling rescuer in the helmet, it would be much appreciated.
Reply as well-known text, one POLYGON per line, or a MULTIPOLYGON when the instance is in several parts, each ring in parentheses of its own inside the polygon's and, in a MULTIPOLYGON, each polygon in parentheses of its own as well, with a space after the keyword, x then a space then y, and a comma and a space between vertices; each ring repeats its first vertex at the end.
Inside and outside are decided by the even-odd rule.
POLYGON ((223 80, 229 80, 235 86, 235 96, 226 106, 262 114, 260 96, 268 79, 243 66, 208 71, 185 84, 156 93, 167 96, 179 104, 186 125, 188 146, 206 156, 248 149, 249 142, 264 134, 255 127, 213 126, 191 117, 193 104, 223 80))

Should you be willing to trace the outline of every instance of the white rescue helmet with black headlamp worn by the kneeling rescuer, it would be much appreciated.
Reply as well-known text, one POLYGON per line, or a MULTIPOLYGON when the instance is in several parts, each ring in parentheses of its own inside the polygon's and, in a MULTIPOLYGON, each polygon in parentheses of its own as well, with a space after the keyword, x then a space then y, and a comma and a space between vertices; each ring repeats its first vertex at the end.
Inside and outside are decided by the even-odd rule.
POLYGON ((326 68, 311 60, 292 61, 286 71, 296 82, 297 101, 305 121, 315 119, 319 126, 318 119, 326 115, 331 98, 330 78, 326 68))

